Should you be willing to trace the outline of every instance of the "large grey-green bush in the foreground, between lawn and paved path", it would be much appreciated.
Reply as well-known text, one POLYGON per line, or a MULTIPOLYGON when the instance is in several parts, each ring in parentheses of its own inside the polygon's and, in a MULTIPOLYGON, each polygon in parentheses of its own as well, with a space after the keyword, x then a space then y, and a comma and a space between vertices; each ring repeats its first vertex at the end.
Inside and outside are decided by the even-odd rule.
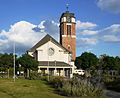
POLYGON ((102 89, 94 86, 87 80, 79 80, 73 78, 64 81, 62 87, 59 89, 62 95, 66 96, 101 96, 102 89))

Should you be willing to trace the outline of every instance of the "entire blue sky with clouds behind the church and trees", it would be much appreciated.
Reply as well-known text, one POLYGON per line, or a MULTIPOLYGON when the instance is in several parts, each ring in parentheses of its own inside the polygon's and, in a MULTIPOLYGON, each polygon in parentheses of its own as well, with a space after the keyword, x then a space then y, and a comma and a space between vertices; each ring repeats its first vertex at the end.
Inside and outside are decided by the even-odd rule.
POLYGON ((76 17, 76 55, 120 56, 120 0, 0 0, 0 53, 21 55, 46 34, 59 42, 59 19, 76 17))

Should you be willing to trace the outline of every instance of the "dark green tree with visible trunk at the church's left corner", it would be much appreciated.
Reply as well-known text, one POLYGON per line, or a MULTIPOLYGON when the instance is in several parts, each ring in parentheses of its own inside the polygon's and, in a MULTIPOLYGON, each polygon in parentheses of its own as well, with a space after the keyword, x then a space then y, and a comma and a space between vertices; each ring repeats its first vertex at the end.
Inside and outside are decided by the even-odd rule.
POLYGON ((25 72, 25 78, 30 77, 30 70, 36 71, 38 69, 38 61, 32 58, 28 54, 23 54, 19 59, 18 62, 22 65, 25 72))

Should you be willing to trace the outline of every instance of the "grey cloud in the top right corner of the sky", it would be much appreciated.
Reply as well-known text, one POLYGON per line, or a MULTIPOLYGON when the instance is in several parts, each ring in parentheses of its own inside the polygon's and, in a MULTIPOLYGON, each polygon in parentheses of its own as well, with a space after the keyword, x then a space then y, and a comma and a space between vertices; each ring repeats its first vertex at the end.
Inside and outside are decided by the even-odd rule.
POLYGON ((113 13, 120 13, 120 0, 98 0, 98 7, 113 13))

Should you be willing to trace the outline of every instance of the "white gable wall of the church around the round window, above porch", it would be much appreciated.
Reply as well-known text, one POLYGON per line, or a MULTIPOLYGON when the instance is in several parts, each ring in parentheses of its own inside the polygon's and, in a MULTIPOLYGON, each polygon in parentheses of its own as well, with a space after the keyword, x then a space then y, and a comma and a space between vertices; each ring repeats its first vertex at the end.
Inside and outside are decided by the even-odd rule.
POLYGON ((37 48, 38 50, 38 61, 62 61, 68 63, 68 53, 64 52, 64 50, 58 47, 56 44, 52 42, 47 42, 46 44, 37 48), (53 48, 54 54, 52 56, 48 56, 48 49, 53 48))

